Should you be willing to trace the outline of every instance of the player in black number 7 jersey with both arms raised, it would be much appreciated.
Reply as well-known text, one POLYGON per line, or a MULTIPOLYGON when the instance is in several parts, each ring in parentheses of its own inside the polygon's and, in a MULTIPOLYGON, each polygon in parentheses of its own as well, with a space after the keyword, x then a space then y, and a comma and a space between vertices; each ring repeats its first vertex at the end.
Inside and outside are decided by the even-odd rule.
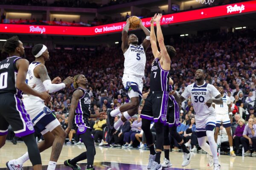
POLYGON ((166 113, 169 98, 169 71, 171 59, 176 54, 172 46, 164 45, 163 33, 161 31, 160 19, 162 14, 155 14, 151 18, 150 41, 154 54, 154 61, 150 73, 150 92, 145 100, 141 111, 142 130, 145 133, 146 141, 150 150, 148 169, 161 170, 160 156, 163 147, 163 125, 166 124, 166 113), (154 33, 154 21, 157 24, 157 38, 154 33), (160 51, 157 48, 159 43, 160 51), (155 122, 157 134, 156 151, 154 150, 153 136, 150 130, 151 121, 155 122))

